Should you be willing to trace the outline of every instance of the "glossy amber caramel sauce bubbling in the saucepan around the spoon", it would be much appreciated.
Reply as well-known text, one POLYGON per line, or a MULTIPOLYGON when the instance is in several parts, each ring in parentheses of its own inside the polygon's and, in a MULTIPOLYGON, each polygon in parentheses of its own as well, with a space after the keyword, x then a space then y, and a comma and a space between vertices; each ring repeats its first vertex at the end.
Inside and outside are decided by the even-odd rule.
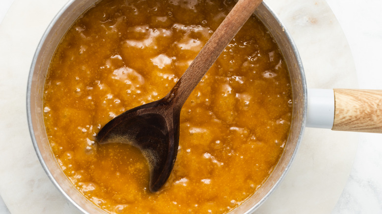
POLYGON ((72 184, 109 213, 226 213, 277 164, 291 121, 290 78, 277 44, 250 18, 192 92, 174 169, 148 190, 142 153, 95 136, 127 109, 164 97, 233 0, 103 0, 68 30, 51 61, 44 117, 72 184))

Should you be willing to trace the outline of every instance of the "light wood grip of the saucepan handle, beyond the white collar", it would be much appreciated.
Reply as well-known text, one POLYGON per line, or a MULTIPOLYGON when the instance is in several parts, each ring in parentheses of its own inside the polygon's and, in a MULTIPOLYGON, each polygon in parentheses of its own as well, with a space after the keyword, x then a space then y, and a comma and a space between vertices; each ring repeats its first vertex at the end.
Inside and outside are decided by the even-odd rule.
POLYGON ((332 130, 382 133, 382 90, 334 89, 332 130))

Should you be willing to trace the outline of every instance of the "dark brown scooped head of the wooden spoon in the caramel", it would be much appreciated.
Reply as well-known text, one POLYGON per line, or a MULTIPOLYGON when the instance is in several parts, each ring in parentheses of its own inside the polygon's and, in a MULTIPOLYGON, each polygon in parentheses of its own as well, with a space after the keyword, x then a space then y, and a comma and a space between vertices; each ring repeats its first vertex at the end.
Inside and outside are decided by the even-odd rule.
POLYGON ((143 152, 149 164, 151 192, 166 183, 177 155, 180 108, 171 104, 163 98, 127 110, 97 135, 99 143, 126 143, 143 152))

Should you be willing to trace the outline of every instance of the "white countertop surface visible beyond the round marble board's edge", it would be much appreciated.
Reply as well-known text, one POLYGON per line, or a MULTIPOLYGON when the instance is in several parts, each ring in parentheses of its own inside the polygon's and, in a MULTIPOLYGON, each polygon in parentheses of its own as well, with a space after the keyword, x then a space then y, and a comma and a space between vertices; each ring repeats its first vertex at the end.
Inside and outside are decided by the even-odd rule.
MULTIPOLYGON (((0 21, 13 1, 0 1, 0 21)), ((359 88, 382 89, 382 1, 326 1, 348 40, 357 69, 359 88)), ((0 171, 0 176, 4 174, 0 171)), ((0 214, 8 213, 0 198, 0 214)), ((382 213, 382 134, 359 135, 353 169, 331 213, 382 213)))

